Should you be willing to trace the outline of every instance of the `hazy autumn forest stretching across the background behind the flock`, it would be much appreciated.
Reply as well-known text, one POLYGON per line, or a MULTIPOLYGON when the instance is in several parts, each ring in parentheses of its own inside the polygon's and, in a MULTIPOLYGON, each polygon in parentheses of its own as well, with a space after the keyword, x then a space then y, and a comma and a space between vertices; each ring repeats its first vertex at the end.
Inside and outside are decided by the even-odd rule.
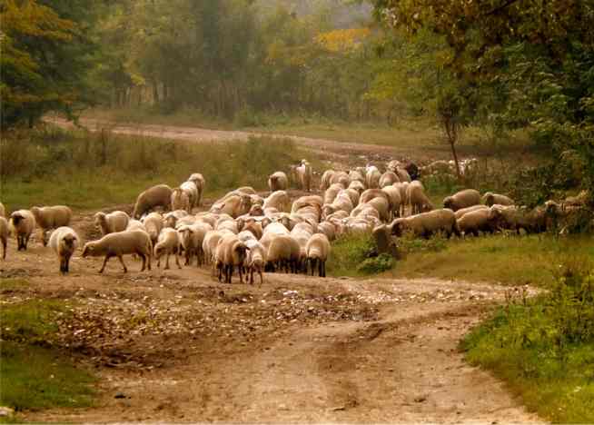
POLYGON ((520 129, 556 159, 527 176, 544 192, 594 183, 591 0, 6 0, 0 13, 3 129, 96 105, 243 125, 422 115, 454 157, 467 126, 495 142, 520 129))

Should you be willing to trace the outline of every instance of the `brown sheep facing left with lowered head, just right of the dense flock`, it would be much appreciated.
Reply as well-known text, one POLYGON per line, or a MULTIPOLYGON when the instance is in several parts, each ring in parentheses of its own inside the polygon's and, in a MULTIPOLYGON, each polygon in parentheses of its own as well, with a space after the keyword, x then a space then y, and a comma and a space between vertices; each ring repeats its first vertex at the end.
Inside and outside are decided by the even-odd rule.
POLYGON ((440 231, 445 232, 448 237, 451 236, 451 233, 460 236, 456 216, 449 209, 411 215, 391 222, 392 234, 401 236, 405 230, 410 230, 415 235, 426 239, 429 239, 431 234, 440 231))

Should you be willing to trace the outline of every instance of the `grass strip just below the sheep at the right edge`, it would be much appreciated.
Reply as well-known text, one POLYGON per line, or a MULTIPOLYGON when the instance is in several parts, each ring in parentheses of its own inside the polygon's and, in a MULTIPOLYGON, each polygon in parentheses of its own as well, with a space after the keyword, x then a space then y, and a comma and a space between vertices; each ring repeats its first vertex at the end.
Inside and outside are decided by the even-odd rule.
POLYGON ((437 242, 402 242, 408 252, 396 263, 395 277, 530 283, 548 287, 552 272, 568 257, 594 259, 591 237, 556 238, 549 234, 495 235, 437 242), (414 246, 414 244, 419 246, 414 246), (412 246, 411 246, 412 245, 412 246))

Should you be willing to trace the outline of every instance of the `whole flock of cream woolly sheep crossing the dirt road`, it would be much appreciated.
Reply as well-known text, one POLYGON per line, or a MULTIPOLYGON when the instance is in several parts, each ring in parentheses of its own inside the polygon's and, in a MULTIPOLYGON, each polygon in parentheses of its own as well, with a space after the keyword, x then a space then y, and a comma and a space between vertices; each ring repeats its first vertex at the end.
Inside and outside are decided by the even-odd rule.
MULTIPOLYGON (((428 170, 425 167, 424 170, 428 170)), ((103 237, 86 242, 83 257, 102 256, 104 263, 117 257, 127 272, 123 256, 135 254, 143 262, 142 271, 151 269, 153 257, 165 269, 173 255, 185 265, 194 258, 198 266, 210 264, 219 281, 230 283, 233 272, 240 282, 253 283, 253 274, 262 272, 312 272, 325 277, 325 263, 331 242, 347 233, 383 232, 388 238, 404 232, 424 238, 436 232, 474 234, 509 229, 541 232, 547 228, 550 213, 559 205, 546 203, 533 210, 520 208, 507 196, 467 189, 443 200, 435 209, 414 163, 391 161, 384 173, 374 165, 349 172, 327 170, 322 174, 321 195, 309 194, 293 202, 286 192, 287 174, 272 173, 271 193, 262 197, 252 187, 240 187, 219 199, 208 212, 193 213, 203 198, 204 178, 193 173, 186 182, 172 189, 159 184, 141 193, 134 213, 96 213, 94 224, 103 237)), ((292 167, 292 177, 304 191, 311 192, 312 166, 303 160, 292 167)), ((3 258, 6 240, 15 233, 17 249, 26 250, 29 238, 38 228, 41 240, 49 244, 60 262, 60 272, 69 270, 70 258, 81 238, 68 225, 72 218, 66 206, 33 207, 18 210, 5 219, 0 203, 0 240, 3 258)))

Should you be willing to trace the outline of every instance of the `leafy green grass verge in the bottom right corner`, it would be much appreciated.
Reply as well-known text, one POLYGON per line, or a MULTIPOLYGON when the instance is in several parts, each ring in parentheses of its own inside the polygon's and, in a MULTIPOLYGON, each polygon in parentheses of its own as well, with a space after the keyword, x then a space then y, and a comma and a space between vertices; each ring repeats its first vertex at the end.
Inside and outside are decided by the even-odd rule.
POLYGON ((549 293, 510 299, 461 342, 530 410, 555 422, 594 422, 594 277, 562 268, 549 293))

